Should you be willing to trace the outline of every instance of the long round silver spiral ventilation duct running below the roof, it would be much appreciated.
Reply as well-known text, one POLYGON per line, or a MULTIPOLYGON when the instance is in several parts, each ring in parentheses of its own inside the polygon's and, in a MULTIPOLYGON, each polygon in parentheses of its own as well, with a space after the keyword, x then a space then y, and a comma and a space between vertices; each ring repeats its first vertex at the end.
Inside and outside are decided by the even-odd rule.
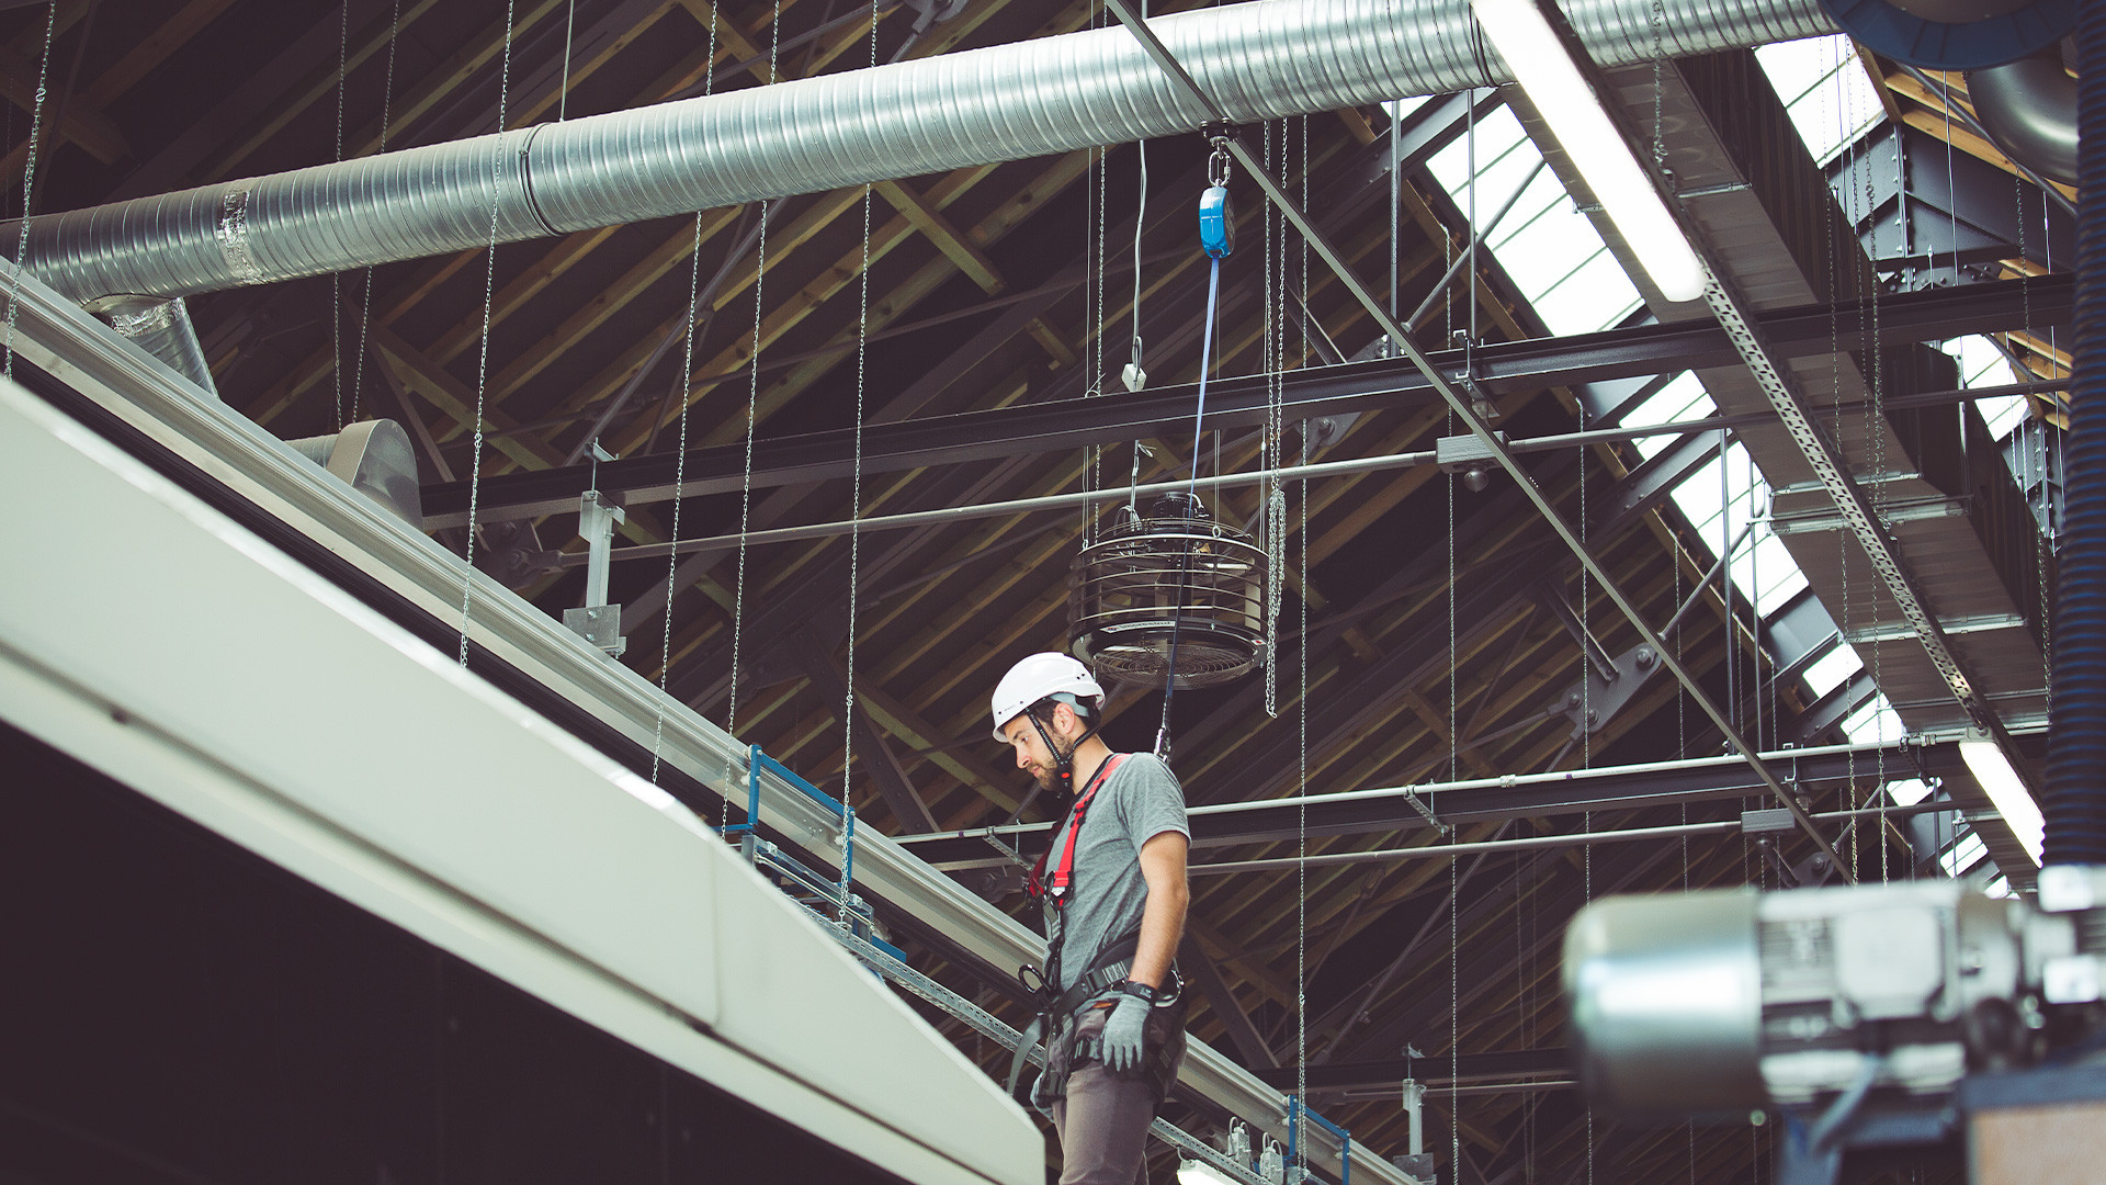
MULTIPOLYGON (((1565 0, 1605 65, 1834 32, 1815 0, 1565 0)), ((1236 120, 1506 80, 1468 0, 1257 0, 1152 21, 1236 120)), ((55 289, 185 295, 1196 131, 1120 27, 411 148, 32 219, 55 289)), ((0 240, 13 232, 0 234, 0 240)))

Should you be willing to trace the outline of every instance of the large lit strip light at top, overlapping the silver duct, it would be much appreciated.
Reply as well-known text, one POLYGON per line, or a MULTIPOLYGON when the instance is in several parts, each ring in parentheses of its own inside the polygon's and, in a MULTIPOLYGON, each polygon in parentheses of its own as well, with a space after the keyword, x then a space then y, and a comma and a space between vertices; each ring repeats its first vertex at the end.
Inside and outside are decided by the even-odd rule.
POLYGON ((1470 0, 1470 6, 1660 295, 1672 302, 1704 295, 1704 266, 1695 251, 1535 0, 1470 0))

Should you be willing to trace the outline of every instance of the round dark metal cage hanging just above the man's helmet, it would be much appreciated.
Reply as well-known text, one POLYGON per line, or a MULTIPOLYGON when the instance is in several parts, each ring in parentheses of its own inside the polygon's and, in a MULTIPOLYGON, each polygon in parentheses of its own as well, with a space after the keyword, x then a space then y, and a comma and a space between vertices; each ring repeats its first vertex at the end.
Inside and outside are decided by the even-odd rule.
POLYGON ((1129 512, 1074 557, 1072 649, 1099 679, 1160 687, 1173 635, 1177 689, 1228 683, 1266 662, 1266 552, 1203 514, 1129 512))

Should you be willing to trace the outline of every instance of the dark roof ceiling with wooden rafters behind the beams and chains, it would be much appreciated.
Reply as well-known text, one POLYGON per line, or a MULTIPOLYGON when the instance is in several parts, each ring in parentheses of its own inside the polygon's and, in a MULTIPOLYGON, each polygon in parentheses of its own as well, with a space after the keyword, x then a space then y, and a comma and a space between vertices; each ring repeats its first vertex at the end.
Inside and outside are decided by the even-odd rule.
MULTIPOLYGON (((499 0, 15 6, 0 13, 11 99, 0 137, 15 148, 0 162, 0 213, 21 211, 38 78, 46 137, 36 148, 32 209, 44 213, 320 164, 383 143, 489 133, 499 124, 501 76, 503 122, 520 127, 1104 21, 1087 2, 1059 0, 969 0, 958 13, 937 11, 922 32, 914 25, 925 8, 891 0, 874 13, 849 0, 722 8, 516 0, 508 38, 505 11, 499 0), (48 63, 46 17, 55 17, 48 63)), ((1264 141, 1291 190, 1308 194, 1310 213, 1369 283, 1386 287, 1396 253, 1396 297, 1413 308, 1468 240, 1466 219, 1426 177, 1424 160, 1466 133, 1472 101, 1485 112, 1499 97, 1430 103, 1411 116, 1394 226, 1388 139, 1377 133, 1386 133, 1384 112, 1310 116, 1247 135, 1264 141)), ((1148 145, 1141 335, 1156 386, 1196 380, 1205 264, 1192 213, 1203 160, 1200 137, 1148 145)), ((505 245, 495 266, 482 253, 417 259, 211 293, 190 306, 232 407, 286 439, 373 415, 402 420, 419 441, 428 491, 472 472, 478 405, 480 477, 499 481, 575 462, 602 413, 604 447, 636 458, 672 455, 682 441, 737 445, 748 417, 771 441, 857 420, 1120 399, 1137 162, 1135 145, 1116 145, 912 177, 868 194, 786 198, 769 205, 754 245, 741 240, 758 209, 703 211, 505 245), (689 344, 682 327, 695 291, 703 299, 689 344)), ((1375 346, 1365 314, 1283 238, 1255 194, 1240 207, 1238 247, 1221 278, 1217 375, 1253 375, 1268 358, 1274 369, 1320 367, 1375 346)), ((1493 344, 1546 335, 1485 253, 1474 274, 1434 297, 1417 325, 1419 344, 1447 346, 1449 329, 1470 320, 1470 302, 1493 344)), ((1628 403, 1657 382, 1641 375, 1592 394, 1628 403)), ((1502 428, 1516 439, 1571 432, 1588 394, 1577 386, 1506 390, 1502 428)), ((1432 449, 1455 430, 1438 401, 1369 401, 1310 453, 1432 449)), ((1251 428, 1200 443, 1169 432, 1144 441, 1137 472, 1141 481, 1181 474, 1194 451, 1207 470, 1255 468, 1259 445, 1251 428)), ((1283 449, 1299 455, 1299 424, 1287 426, 1283 449)), ((859 487, 764 487, 750 504, 733 491, 634 506, 617 540, 623 546, 737 531, 741 514, 758 529, 1085 483, 1108 489, 1091 514, 1017 512, 868 531, 853 546, 840 536, 756 546, 743 559, 689 557, 678 563, 670 614, 668 563, 621 561, 611 599, 625 607, 623 662, 665 679, 697 711, 834 793, 851 736, 840 717, 853 673, 849 797, 866 822, 895 835, 1002 822, 1028 786, 986 738, 986 694, 1021 654, 1066 647, 1068 563, 1085 531, 1108 523, 1133 458, 1133 445, 1110 443, 876 472, 859 487), (733 649, 743 671, 735 719, 733 649)), ((1666 502, 1611 529, 1601 508, 1630 489, 1636 451, 1605 443, 1525 460, 1567 519, 1596 531, 1590 546, 1651 622, 1697 599, 1670 643, 1744 730, 1765 746, 1834 738, 1839 717, 1807 717, 1813 696, 1796 675, 1775 677, 1742 599, 1716 584, 1695 590, 1716 542, 1697 540, 1666 502), (1815 732, 1805 732, 1809 719, 1815 732)), ((1209 506, 1240 525, 1257 517, 1259 493, 1232 487, 1209 506)), ((1192 805, 1718 753, 1716 730, 1666 679, 1647 683, 1594 734, 1575 738, 1573 721, 1552 713, 1582 677, 1580 635, 1611 656, 1636 635, 1504 479, 1472 491, 1422 464, 1295 483, 1289 523, 1276 715, 1266 711, 1261 675, 1177 696, 1175 759, 1192 805)), ((556 616, 581 601, 581 569, 556 567, 558 555, 581 550, 575 525, 575 514, 486 523, 478 563, 556 616)), ((455 548, 465 542, 457 529, 440 538, 455 548)), ((1156 692, 1114 696, 1114 746, 1146 749, 1158 708, 1156 692)), ((1862 793, 1849 776, 1809 782, 1809 791, 1815 810, 1851 805, 1862 793)), ((1754 805, 1767 803, 1752 791, 1590 812, 1546 799, 1451 831, 1400 818, 1312 837, 1308 850, 1731 820, 1754 805)), ((1441 795, 1430 793, 1426 808, 1441 818, 1441 795)), ((1032 803, 1024 818, 1045 818, 1045 810, 1032 803)), ((1851 854, 1876 867, 1883 841, 1893 843, 1898 867, 1914 862, 1898 833, 1864 837, 1851 854)), ((1811 848, 1803 846, 1786 837, 1782 856, 1769 858, 1729 835, 1382 860, 1310 869, 1306 886, 1291 869, 1196 875, 1181 953, 1198 993, 1194 1033, 1291 1084, 1302 974, 1308 1058, 1312 1069, 1331 1067, 1329 1077, 1312 1075, 1314 1105, 1369 1147, 1400 1153, 1407 1137, 1394 1080, 1415 1073, 1436 1084, 1428 1145, 1438 1149, 1443 1181, 1761 1179, 1775 1128, 1740 1120, 1641 1130, 1586 1115, 1565 1086, 1556 945, 1590 896, 1777 883, 1777 865, 1805 858, 1811 848)), ((1274 833, 1205 848, 1196 860, 1297 850, 1295 835, 1274 833)), ((984 873, 958 875, 984 883, 984 873)), ((910 919, 891 921, 925 970, 1019 1014, 990 968, 946 961, 941 949, 912 938, 910 919)), ((996 1050, 931 1018, 996 1065, 996 1050)), ((1175 1118, 1209 1124, 1207 1115, 1175 1118)), ((581 1126, 575 1139, 594 1137, 581 1126)), ((221 1179, 202 1164, 187 1170, 185 1179, 221 1179)), ((1169 1170, 1158 1149, 1154 1179, 1169 1170)))

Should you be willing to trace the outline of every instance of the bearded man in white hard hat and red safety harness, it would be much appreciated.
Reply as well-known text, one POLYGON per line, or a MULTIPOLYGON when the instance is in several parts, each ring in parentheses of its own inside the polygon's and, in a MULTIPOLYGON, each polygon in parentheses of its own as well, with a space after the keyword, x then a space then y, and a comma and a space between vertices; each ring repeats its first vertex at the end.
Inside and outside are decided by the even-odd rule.
POLYGON ((992 708, 994 738, 1061 803, 1030 875, 1047 966, 1019 972, 1038 993, 1038 1021, 1011 1065, 1011 1092, 1042 1033, 1032 1103, 1059 1132, 1061 1185, 1129 1185, 1186 1048, 1171 964, 1190 902, 1184 791, 1160 759, 1097 738, 1104 687, 1066 654, 1011 666, 992 708))

